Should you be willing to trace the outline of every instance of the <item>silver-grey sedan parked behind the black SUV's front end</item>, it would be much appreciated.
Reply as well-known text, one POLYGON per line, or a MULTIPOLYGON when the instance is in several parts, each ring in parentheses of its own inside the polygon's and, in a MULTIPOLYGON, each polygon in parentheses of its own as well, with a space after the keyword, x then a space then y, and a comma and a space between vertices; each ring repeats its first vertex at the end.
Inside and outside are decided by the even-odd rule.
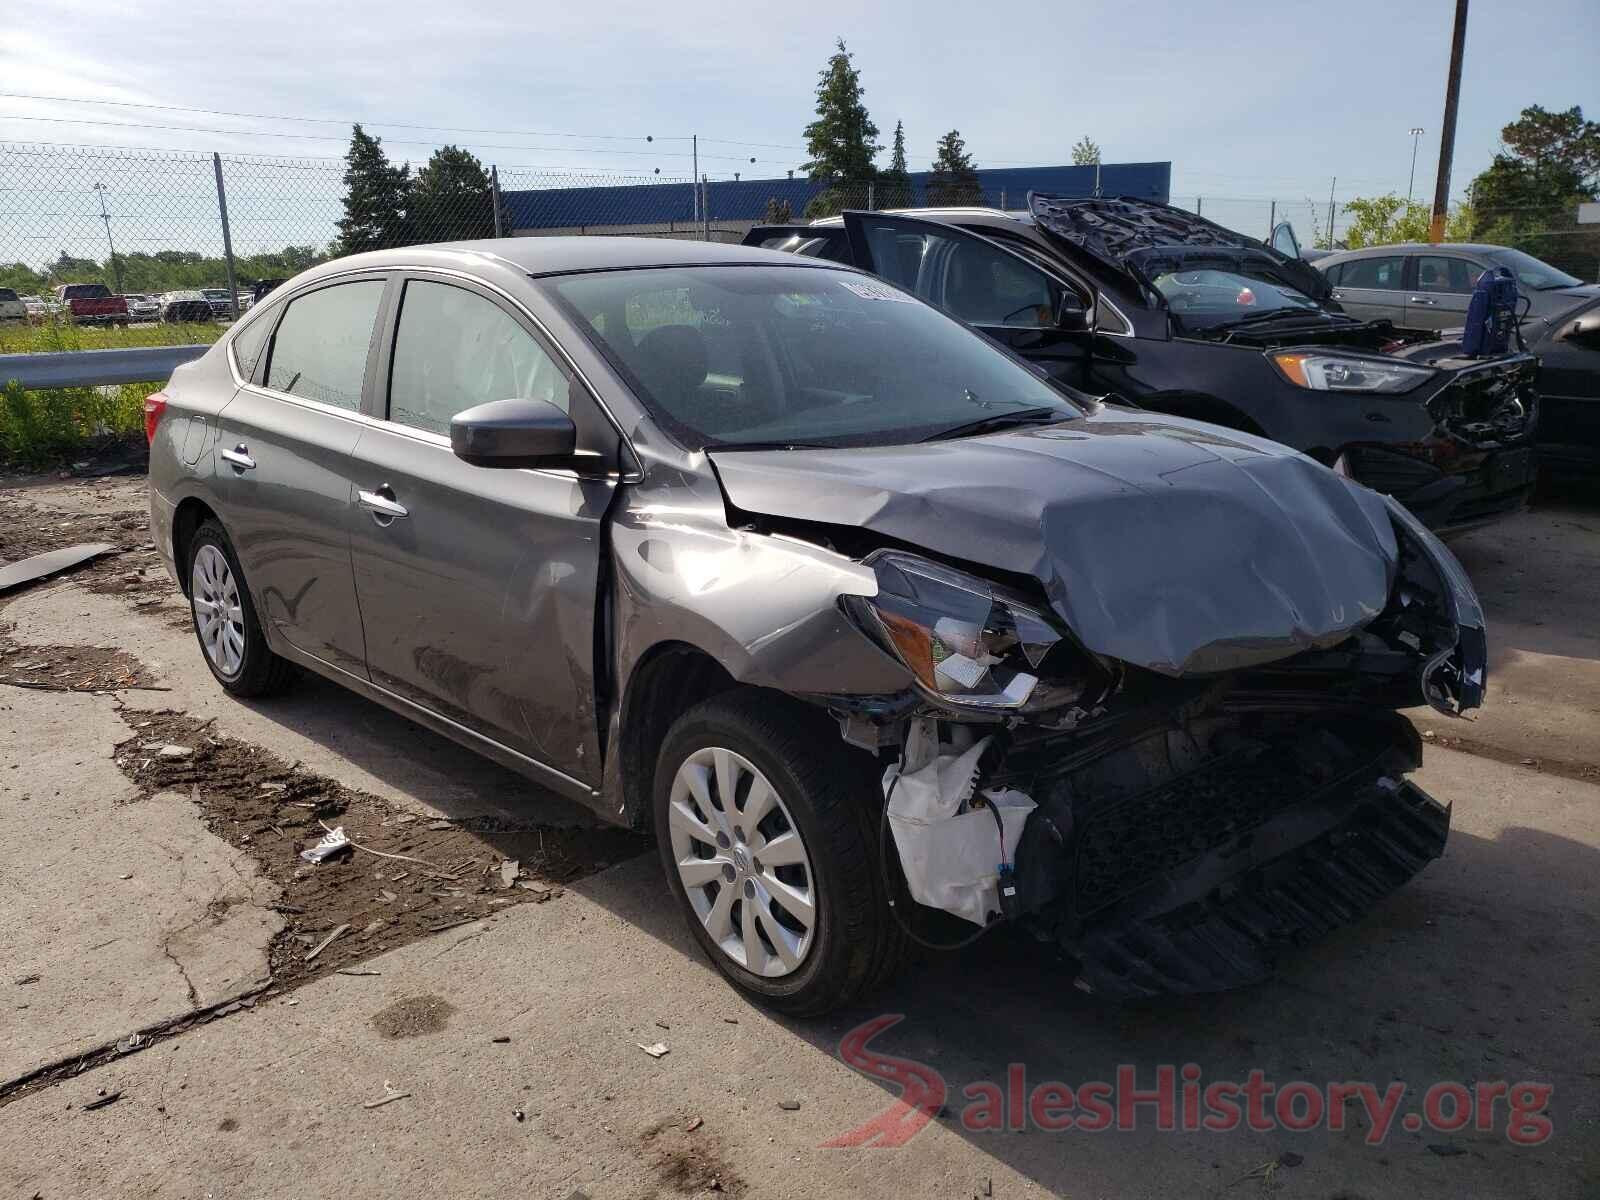
POLYGON ((1333 298, 1346 312, 1416 333, 1461 328, 1472 286, 1493 267, 1506 267, 1517 277, 1530 318, 1552 317, 1600 296, 1600 283, 1584 283, 1526 251, 1467 242, 1344 250, 1317 259, 1315 267, 1328 277, 1333 298))

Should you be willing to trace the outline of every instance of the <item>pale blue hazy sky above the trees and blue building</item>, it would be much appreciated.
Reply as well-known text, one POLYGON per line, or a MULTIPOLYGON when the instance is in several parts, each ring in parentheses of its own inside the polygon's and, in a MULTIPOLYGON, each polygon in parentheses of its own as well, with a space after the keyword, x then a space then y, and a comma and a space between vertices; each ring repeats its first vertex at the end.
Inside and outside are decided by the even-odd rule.
MULTIPOLYGON (((510 8, 32 0, 0 30, 0 90, 365 118, 413 162, 454 141, 501 165, 685 174, 677 139, 699 133, 720 139, 702 170, 750 178, 805 160, 816 72, 838 34, 883 139, 906 122, 914 168, 949 128, 979 165, 1066 162, 1086 133, 1107 160, 1171 160, 1174 197, 1203 195, 1213 214, 1325 203, 1331 176, 1339 198, 1405 192, 1411 126, 1427 130, 1416 192, 1429 195, 1453 2, 510 8)), ((1530 102, 1600 117, 1600 0, 1474 6, 1456 197, 1530 102)), ((0 139, 338 155, 347 130, 0 98, 0 139)))

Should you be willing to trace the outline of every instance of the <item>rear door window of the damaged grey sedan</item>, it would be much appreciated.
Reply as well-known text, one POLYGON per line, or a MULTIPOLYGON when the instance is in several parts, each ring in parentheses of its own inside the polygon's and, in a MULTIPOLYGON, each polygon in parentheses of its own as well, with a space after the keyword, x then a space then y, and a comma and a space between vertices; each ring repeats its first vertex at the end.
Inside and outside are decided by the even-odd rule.
POLYGON ((382 298, 382 280, 363 280, 291 299, 272 336, 267 387, 334 408, 360 408, 382 298))

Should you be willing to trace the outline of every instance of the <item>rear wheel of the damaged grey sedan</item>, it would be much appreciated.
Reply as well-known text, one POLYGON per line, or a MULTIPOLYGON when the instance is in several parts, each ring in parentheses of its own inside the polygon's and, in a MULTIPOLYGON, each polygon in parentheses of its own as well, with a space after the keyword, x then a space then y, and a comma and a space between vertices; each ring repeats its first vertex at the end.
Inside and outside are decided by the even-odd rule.
POLYGON ((238 555, 214 520, 200 525, 189 541, 187 579, 200 658, 226 691, 274 696, 294 682, 294 664, 274 654, 261 632, 238 555))

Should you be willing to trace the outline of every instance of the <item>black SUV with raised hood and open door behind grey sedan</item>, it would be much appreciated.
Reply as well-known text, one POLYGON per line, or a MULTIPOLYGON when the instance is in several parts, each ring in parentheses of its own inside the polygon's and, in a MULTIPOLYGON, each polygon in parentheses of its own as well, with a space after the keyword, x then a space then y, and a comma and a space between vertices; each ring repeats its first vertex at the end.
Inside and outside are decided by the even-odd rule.
POLYGON ((1027 211, 757 226, 746 245, 870 270, 1070 387, 1294 446, 1435 530, 1533 488, 1534 355, 1406 342, 1304 261, 1170 205, 1032 194, 1027 211))

